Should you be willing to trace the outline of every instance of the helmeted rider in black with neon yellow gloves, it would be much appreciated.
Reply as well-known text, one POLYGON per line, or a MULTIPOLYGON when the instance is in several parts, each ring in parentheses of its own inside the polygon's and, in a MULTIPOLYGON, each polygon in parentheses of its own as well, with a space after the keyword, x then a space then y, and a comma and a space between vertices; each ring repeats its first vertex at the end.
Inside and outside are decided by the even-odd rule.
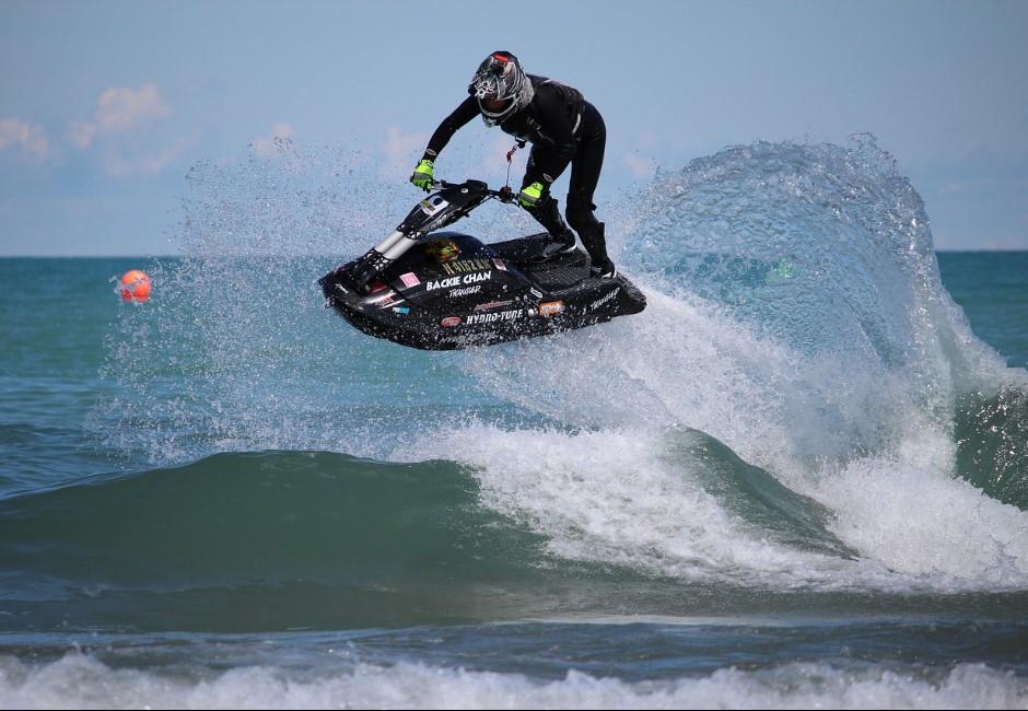
POLYGON ((560 217, 549 188, 571 163, 568 222, 577 231, 593 259, 593 275, 617 272, 607 256, 604 223, 593 210, 593 193, 604 164, 607 128, 582 92, 552 79, 526 74, 517 57, 494 51, 479 66, 468 85, 470 94, 443 119, 414 167, 410 182, 429 190, 435 158, 457 129, 481 114, 487 126, 499 126, 524 144, 531 143, 528 167, 517 194, 518 203, 546 228, 553 240, 549 255, 574 250, 574 232, 560 217))

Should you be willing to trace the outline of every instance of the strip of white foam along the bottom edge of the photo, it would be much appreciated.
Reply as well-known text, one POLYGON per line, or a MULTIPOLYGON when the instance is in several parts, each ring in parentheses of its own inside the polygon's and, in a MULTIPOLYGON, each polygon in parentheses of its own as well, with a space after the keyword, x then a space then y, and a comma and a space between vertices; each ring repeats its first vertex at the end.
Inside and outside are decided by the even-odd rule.
POLYGON ((0 661, 4 709, 1013 709, 1028 681, 981 664, 928 674, 884 666, 788 664, 627 683, 570 672, 556 681, 417 664, 336 672, 242 667, 203 680, 110 668, 82 654, 26 665, 0 661))

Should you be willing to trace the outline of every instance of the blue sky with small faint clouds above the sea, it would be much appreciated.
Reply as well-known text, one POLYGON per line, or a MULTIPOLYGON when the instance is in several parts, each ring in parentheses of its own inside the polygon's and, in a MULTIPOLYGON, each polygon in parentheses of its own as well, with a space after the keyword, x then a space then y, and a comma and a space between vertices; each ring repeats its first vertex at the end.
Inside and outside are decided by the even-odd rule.
MULTIPOLYGON (((600 200, 727 145, 869 132, 938 249, 1028 249, 1026 35, 1021 1, 4 0, 0 256, 174 254, 189 168, 276 137, 402 183, 497 49, 600 109, 600 200)), ((503 180, 498 129, 457 143, 503 180)))

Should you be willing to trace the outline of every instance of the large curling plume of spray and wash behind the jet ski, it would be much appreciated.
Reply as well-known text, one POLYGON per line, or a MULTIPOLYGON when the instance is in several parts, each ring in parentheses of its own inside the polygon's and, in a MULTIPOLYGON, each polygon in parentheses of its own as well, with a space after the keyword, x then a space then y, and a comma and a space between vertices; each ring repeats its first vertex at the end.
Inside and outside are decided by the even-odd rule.
MULTIPOLYGON (((971 335, 941 285, 920 198, 873 141, 757 143, 664 175, 621 259, 646 285, 644 314, 469 354, 466 370, 569 424, 714 435, 827 505, 845 544, 897 573, 944 587, 1024 584, 1024 514, 954 479, 953 432, 990 393, 1024 392, 1025 374, 971 335)), ((1009 462, 1003 470, 1024 477, 1016 408, 986 411, 1005 446, 979 450, 978 468, 1009 462)), ((606 440, 623 436, 586 452, 601 462, 623 447, 606 440)), ((655 464, 640 452, 622 476, 655 464)), ((526 511, 537 488, 517 482, 529 471, 506 477, 526 511)))

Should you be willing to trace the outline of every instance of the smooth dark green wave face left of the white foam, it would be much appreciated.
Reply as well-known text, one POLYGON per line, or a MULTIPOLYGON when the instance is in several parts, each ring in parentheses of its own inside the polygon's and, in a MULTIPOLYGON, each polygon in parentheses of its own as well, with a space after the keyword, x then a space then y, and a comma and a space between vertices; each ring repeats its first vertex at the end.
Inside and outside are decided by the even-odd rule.
POLYGON ((329 453, 214 455, 10 498, 0 540, 8 610, 128 623, 163 606, 172 629, 176 610, 183 628, 198 623, 190 607, 258 627, 364 609, 460 618, 478 586, 537 582, 540 558, 539 537, 477 505, 456 464, 329 453))

